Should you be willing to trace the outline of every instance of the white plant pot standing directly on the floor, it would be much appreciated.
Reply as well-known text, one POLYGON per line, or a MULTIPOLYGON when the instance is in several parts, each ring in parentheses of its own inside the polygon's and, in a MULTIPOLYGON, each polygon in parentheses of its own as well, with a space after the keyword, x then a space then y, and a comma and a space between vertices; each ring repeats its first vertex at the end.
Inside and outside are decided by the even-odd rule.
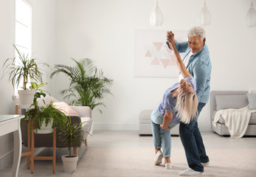
POLYGON ((63 162, 64 172, 73 172, 77 169, 78 156, 72 155, 69 157, 69 155, 63 155, 61 156, 61 159, 63 162))

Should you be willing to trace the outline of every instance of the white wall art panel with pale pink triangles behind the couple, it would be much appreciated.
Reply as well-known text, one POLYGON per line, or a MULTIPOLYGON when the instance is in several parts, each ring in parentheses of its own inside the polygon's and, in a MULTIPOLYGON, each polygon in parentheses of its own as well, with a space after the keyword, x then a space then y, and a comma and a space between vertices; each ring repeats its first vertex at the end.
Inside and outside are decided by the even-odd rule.
MULTIPOLYGON (((173 51, 166 44, 166 32, 135 30, 134 77, 179 77, 173 51)), ((187 41, 186 31, 173 32, 177 41, 187 41)))

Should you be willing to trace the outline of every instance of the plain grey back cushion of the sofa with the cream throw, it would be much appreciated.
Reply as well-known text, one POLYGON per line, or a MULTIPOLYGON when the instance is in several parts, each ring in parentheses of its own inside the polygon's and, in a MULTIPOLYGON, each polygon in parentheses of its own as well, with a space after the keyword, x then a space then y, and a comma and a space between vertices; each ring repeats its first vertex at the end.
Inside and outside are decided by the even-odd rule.
POLYGON ((246 94, 237 95, 216 95, 216 110, 226 108, 243 108, 248 105, 246 94))

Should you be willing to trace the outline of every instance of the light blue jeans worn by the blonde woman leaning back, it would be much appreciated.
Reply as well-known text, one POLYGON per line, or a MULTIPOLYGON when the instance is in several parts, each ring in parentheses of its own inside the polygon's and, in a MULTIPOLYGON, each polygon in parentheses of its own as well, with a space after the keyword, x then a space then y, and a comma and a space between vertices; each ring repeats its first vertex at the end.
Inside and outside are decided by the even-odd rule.
MULTIPOLYGON (((159 113, 158 108, 155 108, 151 114, 151 127, 153 134, 153 145, 156 148, 162 147, 164 157, 170 157, 170 130, 164 130, 160 127, 163 123, 164 117, 159 113)), ((171 129, 178 125, 178 123, 170 123, 168 127, 171 129)))

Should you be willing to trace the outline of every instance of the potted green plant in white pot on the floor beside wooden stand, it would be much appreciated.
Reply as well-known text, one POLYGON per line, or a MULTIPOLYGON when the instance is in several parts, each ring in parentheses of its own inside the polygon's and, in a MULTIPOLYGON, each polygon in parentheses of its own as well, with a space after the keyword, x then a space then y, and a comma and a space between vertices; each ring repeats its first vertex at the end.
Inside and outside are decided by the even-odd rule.
POLYGON ((69 150, 69 154, 61 156, 63 162, 63 170, 65 172, 73 172, 77 168, 78 156, 71 153, 71 148, 77 146, 79 141, 85 142, 83 139, 82 125, 84 122, 72 124, 71 118, 66 125, 60 127, 60 147, 66 144, 69 150))

